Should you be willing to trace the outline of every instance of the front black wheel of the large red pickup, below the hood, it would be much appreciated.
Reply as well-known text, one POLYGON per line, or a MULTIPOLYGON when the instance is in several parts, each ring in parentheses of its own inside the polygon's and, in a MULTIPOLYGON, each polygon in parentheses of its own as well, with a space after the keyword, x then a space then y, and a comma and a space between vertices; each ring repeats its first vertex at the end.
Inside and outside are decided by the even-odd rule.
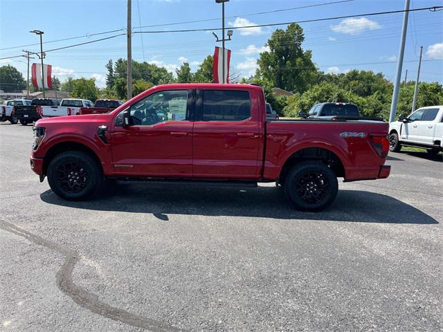
POLYGON ((51 160, 48 183, 62 199, 82 201, 96 193, 102 183, 102 172, 89 154, 66 151, 51 160))

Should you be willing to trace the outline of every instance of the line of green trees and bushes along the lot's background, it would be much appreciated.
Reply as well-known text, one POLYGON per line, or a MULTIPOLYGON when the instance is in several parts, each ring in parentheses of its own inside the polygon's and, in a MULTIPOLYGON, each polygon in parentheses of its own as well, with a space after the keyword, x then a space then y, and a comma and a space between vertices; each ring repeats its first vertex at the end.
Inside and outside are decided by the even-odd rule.
MULTIPOLYGON (((277 29, 266 42, 266 50, 257 59, 257 69, 251 77, 240 77, 230 71, 230 82, 257 83, 280 116, 297 116, 299 111, 309 109, 319 102, 352 102, 365 116, 379 116, 388 119, 393 84, 383 73, 350 70, 346 73, 324 73, 312 61, 311 50, 304 50, 305 35, 298 24, 286 29, 277 29), (278 87, 293 95, 273 95, 278 87)), ((98 89, 96 81, 86 78, 69 77, 62 84, 53 77, 55 89, 67 91, 74 98, 110 98, 125 100, 127 91, 127 60, 109 60, 106 64, 106 86, 98 89)), ((213 82, 213 57, 208 55, 193 73, 190 64, 183 64, 175 75, 166 68, 148 62, 132 62, 133 95, 151 86, 168 83, 210 83, 213 82)), ((414 82, 405 82, 399 91, 397 114, 410 113, 413 102, 414 82)), ((0 89, 14 91, 25 89, 26 82, 12 66, 0 67, 0 89)), ((417 108, 443 104, 443 86, 438 82, 421 82, 417 95, 417 108)))

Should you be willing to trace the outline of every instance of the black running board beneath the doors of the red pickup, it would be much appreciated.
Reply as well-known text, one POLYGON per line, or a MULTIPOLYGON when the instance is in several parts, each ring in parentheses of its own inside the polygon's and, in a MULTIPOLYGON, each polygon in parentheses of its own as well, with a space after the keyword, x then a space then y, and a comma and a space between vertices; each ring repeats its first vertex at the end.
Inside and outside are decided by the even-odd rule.
POLYGON ((197 185, 215 187, 257 187, 254 181, 210 181, 210 180, 181 180, 168 178, 115 178, 117 183, 169 183, 172 185, 197 185))

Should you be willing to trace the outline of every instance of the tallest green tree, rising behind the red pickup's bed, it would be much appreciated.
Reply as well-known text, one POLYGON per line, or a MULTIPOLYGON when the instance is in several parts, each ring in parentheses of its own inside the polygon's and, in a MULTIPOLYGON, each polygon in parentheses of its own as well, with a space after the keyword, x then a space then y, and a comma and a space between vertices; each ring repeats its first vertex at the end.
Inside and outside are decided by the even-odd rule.
POLYGON ((266 44, 269 51, 261 53, 257 60, 255 76, 266 78, 273 86, 287 91, 305 92, 318 70, 311 60, 311 50, 302 49, 304 41, 303 29, 298 24, 275 30, 266 44))

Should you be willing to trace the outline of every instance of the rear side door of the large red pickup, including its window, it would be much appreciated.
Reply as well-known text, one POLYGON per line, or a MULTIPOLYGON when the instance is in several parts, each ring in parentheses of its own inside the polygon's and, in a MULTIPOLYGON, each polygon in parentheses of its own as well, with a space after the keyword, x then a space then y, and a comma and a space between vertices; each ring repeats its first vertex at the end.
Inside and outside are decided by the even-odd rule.
POLYGON ((197 90, 193 176, 258 178, 261 123, 255 91, 232 86, 197 90))

